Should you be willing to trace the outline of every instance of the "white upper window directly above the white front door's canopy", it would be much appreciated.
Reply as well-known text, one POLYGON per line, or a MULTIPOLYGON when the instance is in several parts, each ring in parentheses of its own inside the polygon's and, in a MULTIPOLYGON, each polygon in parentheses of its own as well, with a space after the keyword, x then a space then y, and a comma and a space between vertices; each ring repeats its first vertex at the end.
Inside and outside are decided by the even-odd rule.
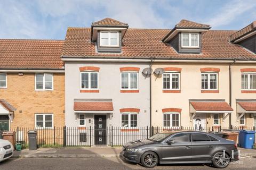
POLYGON ((218 89, 218 73, 201 73, 203 90, 217 90, 218 89))

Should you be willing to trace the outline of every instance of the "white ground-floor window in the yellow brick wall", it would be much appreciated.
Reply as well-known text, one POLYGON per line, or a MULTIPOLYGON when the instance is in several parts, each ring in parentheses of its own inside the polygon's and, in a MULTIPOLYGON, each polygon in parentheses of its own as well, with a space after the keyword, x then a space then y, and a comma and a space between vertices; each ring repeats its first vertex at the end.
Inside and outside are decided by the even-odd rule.
POLYGON ((36 113, 35 114, 35 127, 40 128, 53 128, 53 114, 36 113))

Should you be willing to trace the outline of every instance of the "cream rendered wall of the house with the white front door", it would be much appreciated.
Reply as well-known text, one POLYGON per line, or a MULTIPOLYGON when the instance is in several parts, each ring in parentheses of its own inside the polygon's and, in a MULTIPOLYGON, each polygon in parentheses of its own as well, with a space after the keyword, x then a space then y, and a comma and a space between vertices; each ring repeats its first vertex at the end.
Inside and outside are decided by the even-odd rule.
MULTIPOLYGON (((163 93, 163 78, 152 77, 152 125, 163 126, 163 108, 181 108, 182 126, 193 126, 190 122, 189 99, 225 99, 229 103, 229 66, 212 63, 153 63, 153 70, 158 67, 180 67, 180 93, 163 93), (219 72, 219 93, 201 93, 201 68, 216 67, 219 72)), ((206 116, 207 117, 207 116, 206 116)), ((208 126, 212 121, 208 122, 208 126)), ((222 126, 229 126, 229 117, 222 126)))

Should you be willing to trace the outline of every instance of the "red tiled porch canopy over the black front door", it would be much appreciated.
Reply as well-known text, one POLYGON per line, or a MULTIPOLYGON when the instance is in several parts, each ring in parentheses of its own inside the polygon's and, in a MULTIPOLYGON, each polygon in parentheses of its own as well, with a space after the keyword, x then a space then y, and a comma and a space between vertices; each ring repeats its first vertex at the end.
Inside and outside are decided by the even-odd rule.
POLYGON ((113 113, 112 99, 74 99, 76 113, 113 113))

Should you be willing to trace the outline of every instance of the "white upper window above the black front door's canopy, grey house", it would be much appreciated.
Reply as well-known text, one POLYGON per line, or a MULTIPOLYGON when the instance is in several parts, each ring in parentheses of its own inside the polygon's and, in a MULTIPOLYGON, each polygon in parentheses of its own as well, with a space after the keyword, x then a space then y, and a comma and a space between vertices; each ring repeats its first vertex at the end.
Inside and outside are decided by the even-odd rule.
POLYGON ((99 89, 99 72, 81 72, 81 89, 99 89))

